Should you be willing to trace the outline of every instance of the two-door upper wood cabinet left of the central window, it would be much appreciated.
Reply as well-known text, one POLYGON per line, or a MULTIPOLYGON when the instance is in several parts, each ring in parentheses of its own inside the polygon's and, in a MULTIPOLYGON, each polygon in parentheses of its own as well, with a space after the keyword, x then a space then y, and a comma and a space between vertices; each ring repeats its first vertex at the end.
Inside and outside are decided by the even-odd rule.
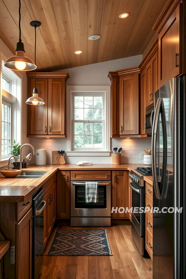
MULTIPOLYGON (((34 73, 27 73, 28 97, 34 88, 34 73)), ((68 73, 36 73, 36 87, 45 104, 28 105, 28 136, 66 136, 66 80, 68 73)))

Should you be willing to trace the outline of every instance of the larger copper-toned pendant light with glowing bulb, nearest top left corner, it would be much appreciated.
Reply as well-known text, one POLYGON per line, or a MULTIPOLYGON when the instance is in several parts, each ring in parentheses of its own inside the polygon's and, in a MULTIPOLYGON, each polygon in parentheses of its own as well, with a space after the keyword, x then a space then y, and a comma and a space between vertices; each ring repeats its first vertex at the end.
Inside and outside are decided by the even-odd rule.
POLYGON ((24 44, 21 41, 21 1, 19 0, 19 42, 16 47, 16 54, 8 58, 5 67, 16 71, 31 71, 37 68, 36 64, 29 57, 25 56, 24 44))

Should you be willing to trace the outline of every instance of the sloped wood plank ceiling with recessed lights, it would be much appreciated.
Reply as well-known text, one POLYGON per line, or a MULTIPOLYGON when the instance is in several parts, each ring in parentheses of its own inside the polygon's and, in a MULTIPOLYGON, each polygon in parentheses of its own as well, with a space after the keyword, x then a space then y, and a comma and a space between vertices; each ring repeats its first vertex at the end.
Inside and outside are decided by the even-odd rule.
MULTIPOLYGON (((21 34, 34 60, 37 28, 38 70, 59 70, 142 54, 167 0, 21 0, 21 34), (119 15, 130 16, 120 19, 119 15), (96 41, 88 37, 99 34, 96 41), (74 51, 83 53, 75 55, 74 51)), ((0 38, 15 53, 19 38, 19 1, 0 0, 0 38)))

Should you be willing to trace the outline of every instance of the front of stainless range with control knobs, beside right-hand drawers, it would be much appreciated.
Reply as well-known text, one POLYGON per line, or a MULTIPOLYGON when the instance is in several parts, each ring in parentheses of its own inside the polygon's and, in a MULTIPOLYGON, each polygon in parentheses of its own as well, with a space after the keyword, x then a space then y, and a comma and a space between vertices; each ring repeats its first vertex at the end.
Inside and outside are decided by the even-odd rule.
POLYGON ((144 181, 143 176, 140 176, 136 173, 133 173, 131 171, 131 174, 129 175, 130 182, 129 186, 132 190, 131 193, 131 204, 132 204, 132 224, 131 224, 131 233, 132 237, 135 241, 135 244, 140 252, 140 254, 143 256, 145 251, 145 228, 144 228, 144 222, 145 222, 145 214, 139 213, 140 207, 145 206, 145 188, 144 188, 144 181))

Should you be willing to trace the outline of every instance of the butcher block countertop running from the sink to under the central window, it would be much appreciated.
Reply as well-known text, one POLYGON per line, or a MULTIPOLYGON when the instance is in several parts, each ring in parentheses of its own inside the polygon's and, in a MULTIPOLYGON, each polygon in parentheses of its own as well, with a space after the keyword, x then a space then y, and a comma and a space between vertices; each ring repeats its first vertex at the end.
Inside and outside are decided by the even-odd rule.
MULTIPOLYGON (((91 166, 66 165, 28 165, 23 171, 47 171, 40 178, 5 178, 0 176, 0 202, 26 201, 28 195, 33 195, 57 170, 132 170, 142 164, 93 164, 91 166)), ((146 181, 146 180, 145 180, 146 181)), ((149 177, 148 177, 148 183, 149 177)))

